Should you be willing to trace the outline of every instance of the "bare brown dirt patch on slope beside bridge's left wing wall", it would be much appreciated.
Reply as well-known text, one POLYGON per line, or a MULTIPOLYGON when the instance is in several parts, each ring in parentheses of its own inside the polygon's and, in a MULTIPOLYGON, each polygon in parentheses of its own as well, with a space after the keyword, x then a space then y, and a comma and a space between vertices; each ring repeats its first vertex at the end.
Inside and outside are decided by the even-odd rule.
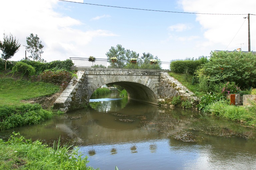
POLYGON ((60 96, 61 93, 55 93, 51 96, 37 97, 30 100, 22 100, 23 103, 39 103, 43 109, 50 109, 53 106, 55 100, 60 96))

